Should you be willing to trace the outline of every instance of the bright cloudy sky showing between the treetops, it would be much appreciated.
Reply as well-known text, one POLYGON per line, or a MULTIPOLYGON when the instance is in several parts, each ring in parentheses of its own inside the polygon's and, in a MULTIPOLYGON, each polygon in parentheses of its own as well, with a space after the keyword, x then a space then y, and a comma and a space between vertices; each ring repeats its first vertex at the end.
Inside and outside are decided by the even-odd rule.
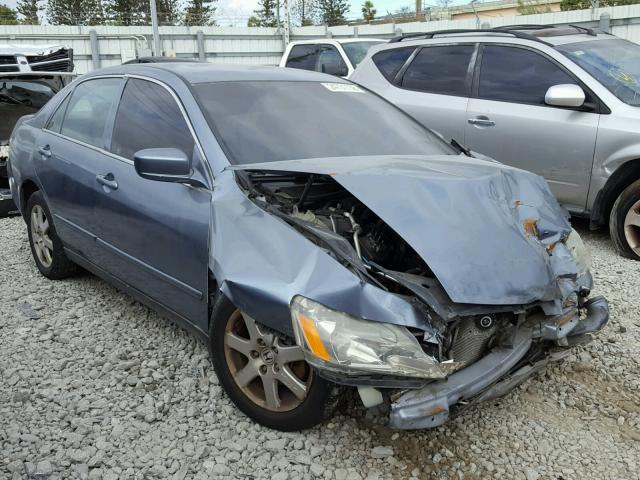
MULTIPOLYGON (((290 0, 293 3, 295 0, 290 0)), ((378 16, 394 13, 401 7, 415 8, 415 0, 372 0, 377 10, 378 16)), ((361 5, 364 0, 349 0, 350 10, 347 12, 347 18, 355 19, 361 16, 361 5)), ((16 0, 0 0, 0 4, 6 4, 11 8, 15 8, 16 0)), ((257 8, 258 0, 218 0, 218 24, 219 25, 246 25, 247 18, 257 8)), ((453 0, 454 5, 469 3, 469 0, 453 0)), ((423 5, 435 6, 436 0, 423 0, 423 5)))

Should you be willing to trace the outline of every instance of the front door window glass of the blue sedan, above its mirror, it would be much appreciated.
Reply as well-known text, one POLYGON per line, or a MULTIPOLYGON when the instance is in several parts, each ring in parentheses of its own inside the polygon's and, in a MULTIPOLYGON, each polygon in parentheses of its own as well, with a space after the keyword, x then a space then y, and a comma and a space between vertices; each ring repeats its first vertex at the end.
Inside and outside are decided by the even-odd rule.
POLYGON ((178 104, 164 87, 127 81, 113 127, 113 153, 133 160, 145 148, 177 148, 191 157, 194 143, 178 104))

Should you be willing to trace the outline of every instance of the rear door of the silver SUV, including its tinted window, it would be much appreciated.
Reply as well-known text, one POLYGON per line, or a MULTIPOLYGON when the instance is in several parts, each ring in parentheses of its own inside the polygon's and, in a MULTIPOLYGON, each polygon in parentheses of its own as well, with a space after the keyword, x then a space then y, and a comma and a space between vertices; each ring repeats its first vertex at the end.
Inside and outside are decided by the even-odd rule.
MULTIPOLYGON (((394 86, 382 95, 446 139, 463 143, 475 50, 475 44, 418 48, 390 80, 394 86)), ((374 62, 385 75, 382 53, 374 62)))

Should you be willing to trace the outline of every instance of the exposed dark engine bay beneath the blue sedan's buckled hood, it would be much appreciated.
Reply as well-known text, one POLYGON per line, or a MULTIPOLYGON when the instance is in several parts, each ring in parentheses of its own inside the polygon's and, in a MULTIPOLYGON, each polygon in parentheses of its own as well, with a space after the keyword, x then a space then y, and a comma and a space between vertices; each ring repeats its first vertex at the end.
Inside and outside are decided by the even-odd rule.
POLYGON ((464 312, 464 306, 454 306, 415 250, 331 176, 255 171, 237 174, 258 205, 290 223, 363 280, 407 296, 418 305, 437 333, 414 334, 425 353, 438 361, 469 365, 502 340, 506 327, 517 322, 512 308, 478 313, 474 311, 477 308, 464 312))

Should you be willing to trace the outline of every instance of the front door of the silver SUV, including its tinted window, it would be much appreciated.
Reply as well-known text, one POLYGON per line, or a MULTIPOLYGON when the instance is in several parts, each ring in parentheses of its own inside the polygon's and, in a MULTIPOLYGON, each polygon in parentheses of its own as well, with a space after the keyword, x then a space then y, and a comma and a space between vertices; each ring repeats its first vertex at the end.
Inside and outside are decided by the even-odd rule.
MULTIPOLYGON (((472 150, 542 175, 561 203, 571 210, 583 210, 599 114, 597 109, 546 105, 547 89, 559 84, 580 82, 541 52, 518 46, 482 46, 465 142, 472 150)), ((598 99, 585 93, 587 102, 597 106, 598 99)))

